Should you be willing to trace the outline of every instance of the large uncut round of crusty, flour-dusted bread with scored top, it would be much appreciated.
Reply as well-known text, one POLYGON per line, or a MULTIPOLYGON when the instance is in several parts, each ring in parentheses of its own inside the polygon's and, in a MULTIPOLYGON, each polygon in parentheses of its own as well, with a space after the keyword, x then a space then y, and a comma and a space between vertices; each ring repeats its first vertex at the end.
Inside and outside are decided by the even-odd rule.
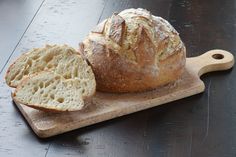
POLYGON ((177 80, 184 71, 186 49, 177 31, 144 9, 114 13, 80 43, 92 66, 97 89, 138 92, 177 80))

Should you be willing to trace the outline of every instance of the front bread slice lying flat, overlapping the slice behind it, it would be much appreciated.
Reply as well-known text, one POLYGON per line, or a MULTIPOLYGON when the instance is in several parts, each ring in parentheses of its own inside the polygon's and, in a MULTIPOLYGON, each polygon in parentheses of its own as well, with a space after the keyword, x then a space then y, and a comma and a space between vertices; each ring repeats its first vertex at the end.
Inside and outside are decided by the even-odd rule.
POLYGON ((53 72, 41 72, 25 78, 13 93, 13 99, 44 111, 77 111, 94 94, 94 83, 94 79, 66 79, 53 72))

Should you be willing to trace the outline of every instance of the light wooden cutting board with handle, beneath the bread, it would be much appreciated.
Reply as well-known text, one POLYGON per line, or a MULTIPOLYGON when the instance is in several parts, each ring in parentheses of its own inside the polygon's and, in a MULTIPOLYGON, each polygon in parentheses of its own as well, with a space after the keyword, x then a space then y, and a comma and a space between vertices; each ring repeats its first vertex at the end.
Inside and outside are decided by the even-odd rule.
POLYGON ((16 104, 34 132, 41 138, 58 135, 84 126, 165 104, 204 91, 200 76, 211 71, 230 69, 234 57, 224 50, 211 50, 187 58, 182 78, 153 91, 132 94, 97 92, 93 103, 78 112, 47 113, 16 104))

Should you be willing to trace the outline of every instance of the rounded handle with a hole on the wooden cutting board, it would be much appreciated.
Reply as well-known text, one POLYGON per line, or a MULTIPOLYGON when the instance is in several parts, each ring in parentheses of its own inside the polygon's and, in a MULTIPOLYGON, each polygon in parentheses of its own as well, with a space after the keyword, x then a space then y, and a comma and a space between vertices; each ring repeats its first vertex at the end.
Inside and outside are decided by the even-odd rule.
MULTIPOLYGON (((186 64, 191 63, 191 70, 199 76, 212 71, 227 70, 234 65, 234 56, 225 50, 210 50, 206 53, 187 59, 186 64)), ((189 67, 189 66, 186 66, 189 67)))

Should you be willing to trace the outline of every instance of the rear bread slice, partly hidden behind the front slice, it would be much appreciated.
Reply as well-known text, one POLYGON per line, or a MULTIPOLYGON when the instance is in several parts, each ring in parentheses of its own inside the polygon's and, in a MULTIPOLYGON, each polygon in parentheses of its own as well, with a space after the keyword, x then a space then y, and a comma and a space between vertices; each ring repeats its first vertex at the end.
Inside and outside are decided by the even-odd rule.
POLYGON ((67 45, 46 45, 32 49, 21 55, 8 69, 6 83, 16 87, 21 80, 29 75, 53 71, 65 78, 87 78, 92 71, 82 57, 67 45), (80 71, 87 71, 82 74, 80 71))

